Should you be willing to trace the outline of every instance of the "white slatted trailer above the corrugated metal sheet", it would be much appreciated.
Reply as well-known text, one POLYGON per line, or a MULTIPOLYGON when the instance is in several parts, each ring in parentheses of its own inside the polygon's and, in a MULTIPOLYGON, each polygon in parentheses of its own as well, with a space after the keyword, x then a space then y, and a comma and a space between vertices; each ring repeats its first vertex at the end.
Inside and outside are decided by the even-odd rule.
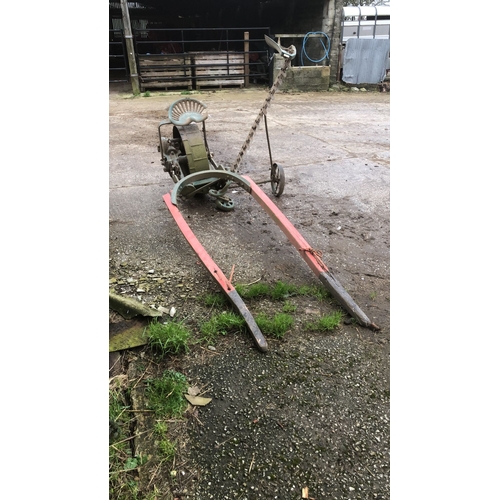
POLYGON ((390 38, 390 7, 348 6, 342 11, 342 44, 349 38, 390 38))

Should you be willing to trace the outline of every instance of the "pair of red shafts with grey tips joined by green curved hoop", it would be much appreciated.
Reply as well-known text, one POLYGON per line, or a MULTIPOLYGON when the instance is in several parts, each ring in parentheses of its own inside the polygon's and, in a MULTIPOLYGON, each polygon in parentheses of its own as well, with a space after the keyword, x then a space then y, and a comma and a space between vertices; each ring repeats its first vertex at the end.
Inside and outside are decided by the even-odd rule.
POLYGON ((230 280, 226 278, 222 270, 217 266, 210 255, 208 255, 207 251, 200 243, 200 241, 196 238, 195 234, 177 208, 177 193, 181 193, 183 187, 185 187, 187 184, 210 178, 230 180, 242 187, 249 194, 251 194, 253 198, 257 200, 259 205, 265 210, 265 212, 274 220, 274 222, 276 222, 279 228, 297 249, 300 256, 306 261, 309 268, 319 278, 321 283, 339 302, 339 304, 364 327, 371 328, 373 330, 380 329, 368 318, 368 316, 366 316, 366 314, 360 309, 360 307, 354 302, 352 297, 338 282, 335 276, 333 276, 333 274, 328 270, 327 266, 321 260, 321 252, 314 250, 307 243, 304 237, 287 219, 283 212, 281 212, 281 210, 271 201, 271 199, 250 177, 242 176, 226 170, 207 170, 190 174, 184 177, 181 181, 177 182, 172 192, 167 193, 163 196, 163 200, 165 201, 170 213, 172 214, 175 222, 179 226, 179 229, 182 231, 182 234, 184 235, 188 243, 196 252, 215 281, 217 281, 224 293, 228 296, 231 303, 238 309, 240 314, 245 319, 245 322, 250 329, 250 333, 253 336, 259 350, 266 352, 268 350, 268 345, 253 316, 243 302, 243 299, 231 284, 230 280))

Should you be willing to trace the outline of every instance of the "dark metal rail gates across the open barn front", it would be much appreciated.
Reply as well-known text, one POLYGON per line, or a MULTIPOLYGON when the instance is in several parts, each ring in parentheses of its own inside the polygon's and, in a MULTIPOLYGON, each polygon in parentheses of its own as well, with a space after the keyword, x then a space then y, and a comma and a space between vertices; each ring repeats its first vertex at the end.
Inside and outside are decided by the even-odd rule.
MULTIPOLYGON (((123 33, 110 30, 110 81, 126 71, 123 33), (111 37, 111 33, 113 37, 111 37), (112 64, 113 63, 113 64, 112 64)), ((132 29, 141 90, 269 84, 272 52, 267 27, 132 29)))

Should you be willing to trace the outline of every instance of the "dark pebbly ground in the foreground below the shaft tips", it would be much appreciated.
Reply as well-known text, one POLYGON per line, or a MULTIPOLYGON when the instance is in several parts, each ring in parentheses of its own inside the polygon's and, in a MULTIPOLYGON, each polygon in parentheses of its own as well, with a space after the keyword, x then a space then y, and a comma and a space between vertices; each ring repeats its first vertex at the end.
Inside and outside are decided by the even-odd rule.
POLYGON ((267 355, 235 341, 188 368, 213 400, 190 423, 200 481, 185 498, 388 499, 387 354, 353 330, 267 355))

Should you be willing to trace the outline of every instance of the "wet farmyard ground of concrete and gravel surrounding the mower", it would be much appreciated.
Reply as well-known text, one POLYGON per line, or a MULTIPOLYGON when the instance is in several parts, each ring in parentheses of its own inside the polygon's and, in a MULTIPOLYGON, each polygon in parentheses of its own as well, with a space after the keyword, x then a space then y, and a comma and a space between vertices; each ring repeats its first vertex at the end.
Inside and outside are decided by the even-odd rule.
MULTIPOLYGON (((264 89, 194 95, 209 108, 208 141, 219 163, 235 161, 266 95, 264 89)), ((110 289, 150 307, 174 306, 177 318, 196 332, 210 315, 199 298, 217 287, 163 202, 173 183, 157 152, 158 123, 180 97, 110 93, 110 289)), ((298 303, 294 328, 284 341, 270 342, 267 354, 239 333, 224 337, 217 352, 193 347, 164 365, 152 363, 158 372, 175 366, 190 383, 206 386, 213 400, 191 421, 177 423, 182 445, 175 484, 168 469, 157 474, 154 464, 142 469, 140 482, 146 491, 154 477, 165 498, 182 491, 185 499, 289 500, 307 486, 316 500, 387 499, 389 94, 278 93, 268 124, 273 160, 286 174, 276 205, 382 329, 344 324, 333 333, 307 333, 311 314, 332 308, 307 298, 298 303), (235 442, 241 443, 237 449, 235 442)), ((261 124, 240 172, 265 180, 269 165, 261 124)), ((272 197, 269 184, 262 187, 272 197)), ((179 205, 226 276, 234 265, 235 283, 318 285, 257 203, 239 188, 229 195, 233 212, 217 211, 209 197, 179 205)), ((277 306, 258 307, 275 312, 277 306)), ((130 380, 137 377, 134 363, 131 355, 130 380)), ((135 404, 140 409, 145 403, 135 404)), ((147 422, 137 431, 148 435, 147 422)), ((149 449, 135 440, 136 451, 149 449)))

